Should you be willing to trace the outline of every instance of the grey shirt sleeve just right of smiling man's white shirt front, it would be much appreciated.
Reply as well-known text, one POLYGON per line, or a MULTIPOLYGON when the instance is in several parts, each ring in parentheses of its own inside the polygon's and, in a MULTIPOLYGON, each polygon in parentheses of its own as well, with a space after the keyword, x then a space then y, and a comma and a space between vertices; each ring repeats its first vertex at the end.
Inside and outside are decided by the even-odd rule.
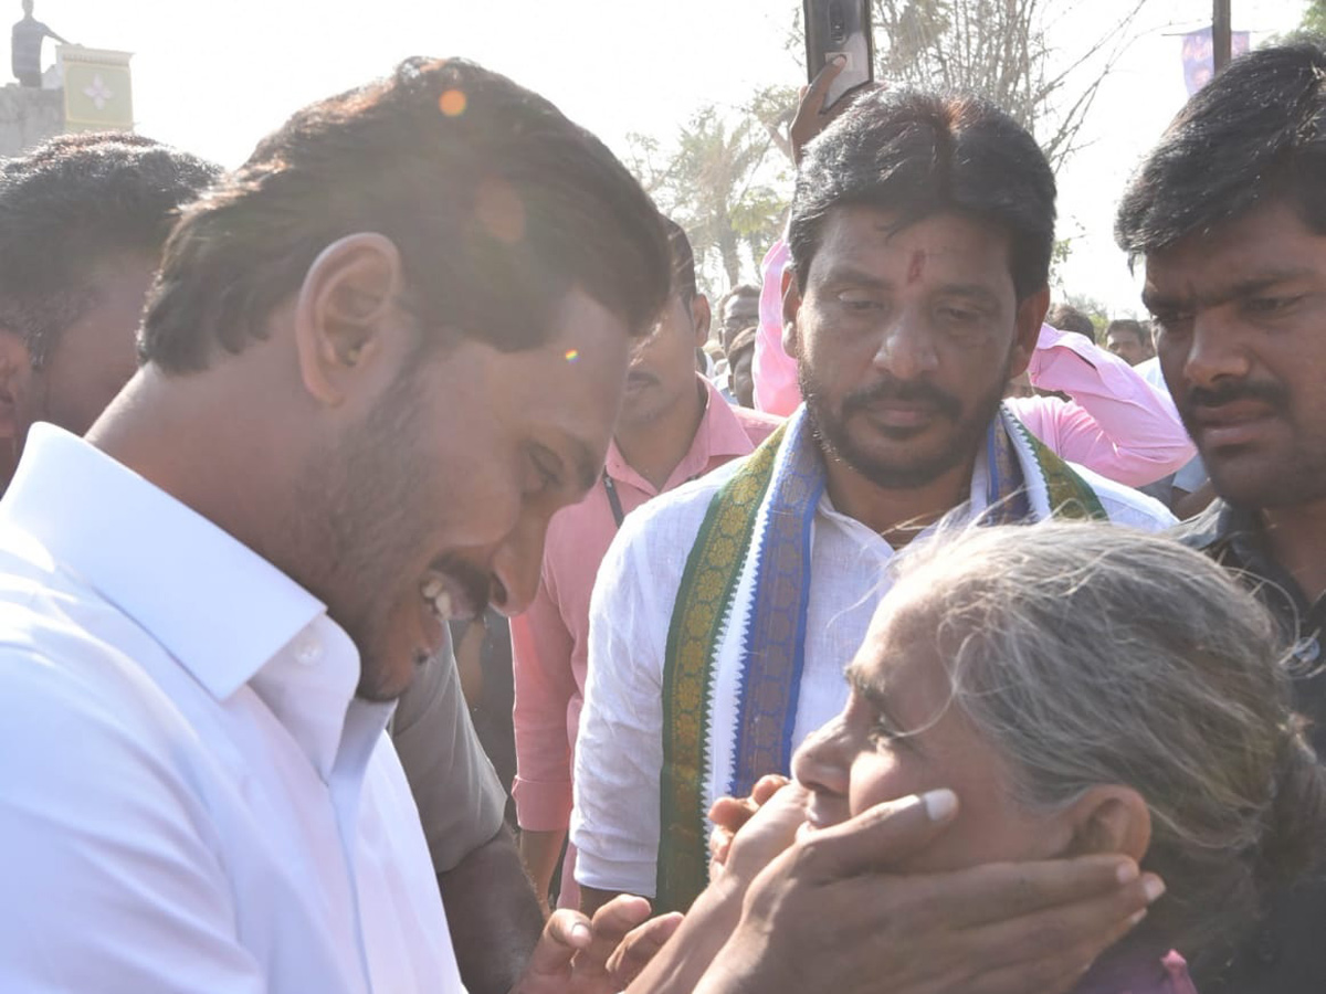
POLYGON ((391 738, 419 807, 434 872, 455 869, 497 835, 507 791, 469 720, 450 640, 402 694, 391 738))

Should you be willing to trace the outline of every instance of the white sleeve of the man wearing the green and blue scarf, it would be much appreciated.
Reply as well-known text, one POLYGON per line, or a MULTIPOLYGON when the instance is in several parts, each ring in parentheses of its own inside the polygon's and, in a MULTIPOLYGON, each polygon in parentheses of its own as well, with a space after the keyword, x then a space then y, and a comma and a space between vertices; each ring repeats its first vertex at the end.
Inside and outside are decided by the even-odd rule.
POLYGON ((650 549, 660 539, 642 531, 652 521, 639 512, 627 517, 594 583, 572 812, 577 881, 646 897, 655 892, 663 648, 672 606, 662 603, 658 579, 667 550, 651 565, 650 549))

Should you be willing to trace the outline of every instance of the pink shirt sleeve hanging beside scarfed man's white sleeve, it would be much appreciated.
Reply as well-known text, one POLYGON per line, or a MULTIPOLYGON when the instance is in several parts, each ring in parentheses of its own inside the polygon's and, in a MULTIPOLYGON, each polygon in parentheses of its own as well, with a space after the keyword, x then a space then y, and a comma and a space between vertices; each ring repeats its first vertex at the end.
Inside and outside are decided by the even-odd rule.
POLYGON ((568 710, 575 696, 574 639, 545 575, 525 614, 511 619, 516 679, 516 818, 534 832, 565 830, 572 815, 568 710))

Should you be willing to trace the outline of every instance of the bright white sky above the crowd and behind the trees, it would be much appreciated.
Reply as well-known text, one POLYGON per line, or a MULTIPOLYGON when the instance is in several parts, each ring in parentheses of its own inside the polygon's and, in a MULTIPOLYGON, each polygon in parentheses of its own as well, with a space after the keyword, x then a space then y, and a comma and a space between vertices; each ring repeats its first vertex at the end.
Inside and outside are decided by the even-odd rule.
MULTIPOLYGON (((1256 45, 1293 28, 1303 5, 1233 0, 1233 27, 1256 45)), ((17 20, 19 1, 11 7, 17 20)), ((1050 41, 1067 50, 1128 7, 1078 4, 1050 41)), ((758 86, 801 82, 801 54, 786 46, 796 9, 796 0, 37 0, 36 16, 73 42, 135 53, 141 133, 236 166, 290 111, 411 54, 501 70, 619 154, 630 131, 667 142, 705 102, 737 106, 758 86)), ((1114 205, 1187 97, 1170 33, 1209 17, 1211 0, 1151 0, 1097 99, 1091 144, 1059 174, 1059 236, 1074 237, 1065 286, 1119 314, 1139 304, 1110 235, 1114 205)))

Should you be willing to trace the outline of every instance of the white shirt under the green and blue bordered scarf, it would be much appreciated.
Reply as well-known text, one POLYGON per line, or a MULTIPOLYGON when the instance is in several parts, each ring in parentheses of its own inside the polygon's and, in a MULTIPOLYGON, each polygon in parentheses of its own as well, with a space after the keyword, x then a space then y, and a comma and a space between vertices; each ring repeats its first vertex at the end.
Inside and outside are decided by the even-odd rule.
MULTIPOLYGON (((590 602, 589 673, 575 751, 572 843, 579 850, 575 879, 602 891, 655 895, 663 770, 663 667, 668 627, 691 549, 713 494, 741 461, 654 498, 633 512, 613 541, 590 602)), ((1156 501, 1082 467, 1110 520, 1147 531, 1174 524, 1156 501)), ((984 452, 972 472, 971 497, 951 521, 984 510, 984 452)), ((810 546, 805 663, 793 742, 800 744, 842 710, 843 668, 865 639, 870 619, 891 586, 895 551, 878 533, 833 506, 815 508, 810 546)), ((922 541, 926 529, 912 541, 922 541)), ((720 659, 708 702, 709 726, 735 728, 740 671, 720 659)), ((731 781, 733 742, 711 736, 705 779, 731 781)), ((788 770, 770 770, 784 773, 788 770)))

